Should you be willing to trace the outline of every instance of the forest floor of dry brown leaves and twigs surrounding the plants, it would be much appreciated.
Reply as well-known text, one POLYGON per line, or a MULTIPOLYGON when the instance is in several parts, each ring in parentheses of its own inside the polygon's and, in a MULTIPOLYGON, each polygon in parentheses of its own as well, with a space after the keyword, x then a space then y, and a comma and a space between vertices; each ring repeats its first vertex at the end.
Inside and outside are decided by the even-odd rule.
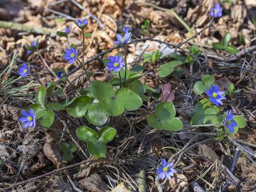
MULTIPOLYGON (((223 186, 227 191, 256 191, 256 1, 222 0, 223 17, 216 19, 209 16, 212 0, 147 2, 0 1, 0 191, 219 191, 223 186), (72 26, 69 41, 82 52, 81 33, 74 24, 81 18, 89 18, 85 61, 90 61, 88 68, 95 73, 91 80, 113 77, 102 60, 122 52, 122 48, 113 49, 113 42, 116 33, 128 26, 135 40, 128 47, 128 67, 141 67, 141 81, 156 89, 140 113, 125 112, 109 119, 118 133, 108 143, 104 159, 90 157, 74 134, 76 127, 63 116, 57 114, 47 130, 24 130, 18 122, 20 109, 35 103, 40 86, 32 76, 19 78, 18 66, 28 62, 31 73, 44 84, 58 81, 36 52, 26 54, 26 47, 36 38, 52 70, 65 68, 77 92, 86 84, 78 64, 63 60, 66 39, 56 36, 56 31, 72 26), (212 42, 220 42, 228 32, 231 44, 238 49, 236 55, 212 48, 212 42), (179 76, 159 77, 157 68, 172 60, 169 55, 187 56, 191 45, 200 48, 193 63, 182 65, 179 76), (157 51, 164 57, 153 58, 157 51), (145 60, 145 54, 152 60, 145 60), (225 139, 218 138, 214 126, 185 126, 196 102, 205 97, 193 92, 195 82, 204 74, 214 76, 223 89, 233 83, 239 90, 227 97, 220 110, 232 109, 246 118, 247 125, 225 139), (156 102, 166 100, 173 102, 184 124, 181 131, 157 131, 147 124, 147 112, 152 112, 156 102), (61 140, 74 142, 79 148, 72 161, 61 160, 57 145, 61 140), (173 157, 178 171, 164 182, 156 179, 163 157, 173 157)), ((71 90, 68 84, 58 86, 71 90)), ((67 92, 63 97, 70 97, 67 92)), ((83 118, 73 120, 88 124, 83 118)))

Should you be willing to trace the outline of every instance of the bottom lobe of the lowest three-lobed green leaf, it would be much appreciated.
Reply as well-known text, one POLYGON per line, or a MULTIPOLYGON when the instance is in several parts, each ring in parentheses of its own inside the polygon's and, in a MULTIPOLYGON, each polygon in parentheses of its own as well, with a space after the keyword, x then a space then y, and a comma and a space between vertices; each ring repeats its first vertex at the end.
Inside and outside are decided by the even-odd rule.
POLYGON ((103 143, 87 143, 87 148, 90 154, 92 154, 93 157, 96 157, 98 159, 103 158, 107 154, 107 148, 106 145, 103 143))

